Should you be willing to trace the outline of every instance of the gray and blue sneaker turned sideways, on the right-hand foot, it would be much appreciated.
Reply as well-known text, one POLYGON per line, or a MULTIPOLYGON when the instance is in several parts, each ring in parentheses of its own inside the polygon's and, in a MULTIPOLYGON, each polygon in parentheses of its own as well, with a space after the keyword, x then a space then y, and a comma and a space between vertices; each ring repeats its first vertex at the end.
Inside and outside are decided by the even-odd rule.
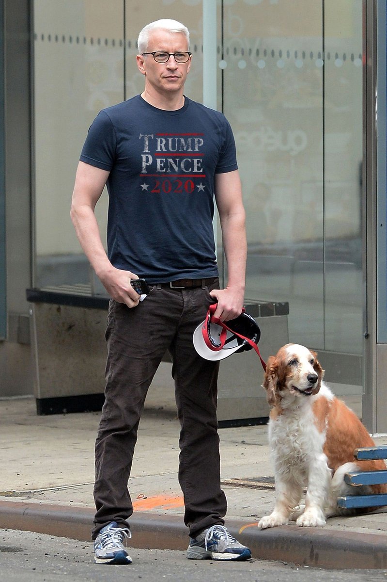
POLYGON ((249 548, 239 544, 224 526, 212 526, 191 538, 187 549, 189 560, 249 560, 249 548))

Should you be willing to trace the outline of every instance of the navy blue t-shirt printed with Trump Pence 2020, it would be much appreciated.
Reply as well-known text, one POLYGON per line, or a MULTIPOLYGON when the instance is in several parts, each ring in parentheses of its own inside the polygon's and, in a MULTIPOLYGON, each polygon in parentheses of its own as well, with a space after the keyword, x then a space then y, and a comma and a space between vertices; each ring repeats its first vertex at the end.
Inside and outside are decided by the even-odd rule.
POLYGON ((217 276, 214 174, 238 168, 222 113, 187 97, 165 111, 137 95, 98 114, 80 159, 110 172, 114 267, 152 283, 217 276))

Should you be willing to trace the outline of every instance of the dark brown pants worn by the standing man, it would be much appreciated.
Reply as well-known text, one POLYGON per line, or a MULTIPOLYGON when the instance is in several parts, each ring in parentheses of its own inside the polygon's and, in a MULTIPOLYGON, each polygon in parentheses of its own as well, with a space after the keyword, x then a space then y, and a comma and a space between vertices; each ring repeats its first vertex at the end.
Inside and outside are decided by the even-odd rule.
MULTIPOLYGON (((195 352, 192 333, 218 288, 170 289, 155 285, 137 307, 111 300, 107 315, 105 404, 95 443, 96 514, 92 538, 117 521, 129 527, 133 506, 128 478, 146 393, 157 367, 169 350, 180 420, 179 482, 184 494, 184 523, 195 537, 223 524, 227 510, 220 488, 217 433, 218 363, 195 352)), ((157 435, 155 435, 157 437, 157 435)))

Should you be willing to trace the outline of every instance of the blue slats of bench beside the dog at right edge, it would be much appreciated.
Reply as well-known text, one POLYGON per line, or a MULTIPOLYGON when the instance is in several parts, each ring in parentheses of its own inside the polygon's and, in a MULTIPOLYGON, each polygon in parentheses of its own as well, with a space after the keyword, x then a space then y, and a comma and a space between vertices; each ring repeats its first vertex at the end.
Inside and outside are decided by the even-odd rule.
MULTIPOLYGON (((387 459, 387 446, 371 446, 355 449, 354 457, 359 461, 387 459)), ((344 481, 348 485, 378 485, 387 483, 387 469, 379 471, 360 471, 347 473, 344 481)), ((341 508, 369 508, 387 505, 387 494, 379 495, 346 495, 338 497, 337 504, 341 508)))

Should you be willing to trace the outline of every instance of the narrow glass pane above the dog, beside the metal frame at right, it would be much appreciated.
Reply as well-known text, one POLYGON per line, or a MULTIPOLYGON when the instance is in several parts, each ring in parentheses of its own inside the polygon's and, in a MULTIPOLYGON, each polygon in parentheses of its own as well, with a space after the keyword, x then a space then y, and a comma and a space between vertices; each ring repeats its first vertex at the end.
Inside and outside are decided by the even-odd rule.
POLYGON ((325 346, 361 354, 362 2, 325 1, 325 346))

